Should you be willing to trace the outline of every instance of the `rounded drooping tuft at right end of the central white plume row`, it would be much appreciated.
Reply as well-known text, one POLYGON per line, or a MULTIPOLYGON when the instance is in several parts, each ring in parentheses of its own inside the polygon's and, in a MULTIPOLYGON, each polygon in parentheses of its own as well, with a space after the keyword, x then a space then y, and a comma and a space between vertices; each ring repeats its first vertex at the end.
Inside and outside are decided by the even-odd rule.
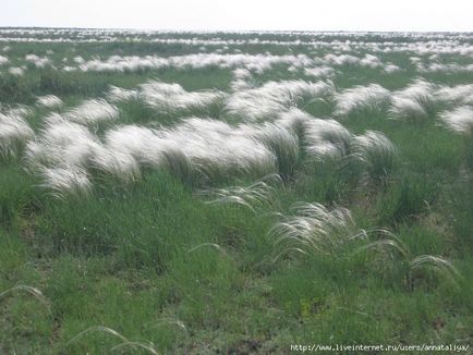
POLYGON ((353 138, 351 149, 369 180, 375 183, 386 182, 395 168, 398 152, 388 137, 380 132, 367 131, 353 138))

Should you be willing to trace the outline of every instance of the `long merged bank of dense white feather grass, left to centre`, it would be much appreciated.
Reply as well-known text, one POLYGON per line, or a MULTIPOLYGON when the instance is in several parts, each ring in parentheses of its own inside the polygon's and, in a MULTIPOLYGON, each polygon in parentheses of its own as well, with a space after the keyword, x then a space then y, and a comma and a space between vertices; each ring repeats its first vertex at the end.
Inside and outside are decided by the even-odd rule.
MULTIPOLYGON (((274 173, 277 157, 268 147, 269 137, 265 145, 255 132, 257 127, 239 128, 221 121, 190 118, 173 128, 119 126, 106 131, 99 139, 87 126, 53 114, 37 138, 27 144, 25 156, 28 167, 44 178, 44 185, 58 193, 86 195, 93 170, 134 181, 141 176, 141 167, 168 169, 195 185, 274 173)), ((287 136, 293 138, 289 133, 287 136)))

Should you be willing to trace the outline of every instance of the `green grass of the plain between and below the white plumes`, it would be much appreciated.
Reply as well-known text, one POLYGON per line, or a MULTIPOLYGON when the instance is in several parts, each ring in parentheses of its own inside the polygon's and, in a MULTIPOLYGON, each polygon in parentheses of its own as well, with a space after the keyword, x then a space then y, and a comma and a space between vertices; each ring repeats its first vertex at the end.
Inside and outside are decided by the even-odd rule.
MULTIPOLYGON (((265 38, 280 39, 277 34, 265 38)), ((375 35, 372 40, 377 40, 375 35)), ((187 91, 231 91, 229 68, 66 72, 23 62, 28 53, 49 56, 54 63, 71 56, 85 60, 113 54, 183 56, 199 52, 197 46, 125 39, 8 45, 4 56, 10 64, 27 68, 24 75, 13 76, 0 66, 2 109, 31 107, 25 120, 36 135, 53 111, 35 107, 38 96, 60 97, 64 106, 57 111, 65 112, 85 99, 106 97, 110 85, 133 89, 151 78, 178 83, 187 91)), ((209 52, 219 48, 206 47, 209 52)), ((243 53, 315 56, 313 48, 302 45, 238 48, 243 53)), ((337 91, 371 83, 393 91, 419 76, 449 86, 473 81, 471 72, 419 74, 408 52, 377 56, 402 70, 337 66, 331 77, 337 91)), ((316 81, 278 65, 253 73, 252 85, 316 81)), ((335 105, 331 100, 298 103, 322 119, 331 118, 335 105)), ((284 168, 288 176, 271 183, 272 198, 252 205, 254 209, 211 204, 211 197, 201 193, 248 186, 260 178, 251 174, 202 182, 180 176, 182 167, 143 167, 141 179, 123 181, 95 172, 87 196, 58 198, 28 169, 23 148, 4 156, 0 162, 0 352, 284 354, 290 344, 471 344, 472 136, 457 135, 439 124, 442 103, 438 105, 422 122, 393 120, 386 110, 369 108, 339 119, 353 134, 373 130, 392 142, 397 155, 389 172, 385 174, 384 166, 374 167, 366 178, 360 168, 314 160, 301 148, 294 167, 284 168), (298 213, 291 206, 301 201, 329 210, 347 208, 355 232, 366 232, 368 241, 355 238, 325 252, 284 253, 284 244, 276 243, 272 232, 284 220, 281 216, 290 219, 298 213), (402 246, 402 252, 384 242, 368 246, 385 240, 376 232, 379 229, 389 230, 396 236, 389 241, 402 246), (426 255, 445 262, 419 259, 426 255)), ((234 124, 218 105, 185 113, 163 113, 140 102, 117 106, 118 119, 96 128, 99 137, 124 124, 172 128, 193 115, 234 124)))

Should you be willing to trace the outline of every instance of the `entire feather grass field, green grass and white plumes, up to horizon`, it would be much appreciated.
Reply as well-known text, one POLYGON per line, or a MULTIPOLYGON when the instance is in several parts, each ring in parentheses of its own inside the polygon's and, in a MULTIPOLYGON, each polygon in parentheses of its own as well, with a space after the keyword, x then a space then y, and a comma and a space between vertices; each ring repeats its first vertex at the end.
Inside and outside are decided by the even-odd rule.
POLYGON ((0 39, 0 353, 472 345, 470 34, 0 39))

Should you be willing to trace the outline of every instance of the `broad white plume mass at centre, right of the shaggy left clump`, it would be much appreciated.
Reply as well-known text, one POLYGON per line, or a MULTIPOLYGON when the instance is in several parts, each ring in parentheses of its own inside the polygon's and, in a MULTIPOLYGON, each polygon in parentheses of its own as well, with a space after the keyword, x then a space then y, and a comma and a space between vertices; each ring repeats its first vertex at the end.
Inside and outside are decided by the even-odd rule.
POLYGON ((122 126, 106 133, 105 146, 140 164, 178 169, 208 181, 276 170, 276 157, 263 143, 215 120, 190 118, 170 130, 122 126))

